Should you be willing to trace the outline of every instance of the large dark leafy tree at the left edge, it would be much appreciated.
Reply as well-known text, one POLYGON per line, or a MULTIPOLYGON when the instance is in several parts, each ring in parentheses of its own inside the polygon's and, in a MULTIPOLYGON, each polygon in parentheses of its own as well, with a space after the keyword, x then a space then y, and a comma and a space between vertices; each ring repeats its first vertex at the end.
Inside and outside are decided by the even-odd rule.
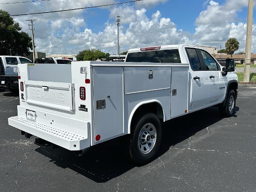
POLYGON ((32 38, 15 23, 10 14, 0 10, 0 55, 28 55, 32 38))

